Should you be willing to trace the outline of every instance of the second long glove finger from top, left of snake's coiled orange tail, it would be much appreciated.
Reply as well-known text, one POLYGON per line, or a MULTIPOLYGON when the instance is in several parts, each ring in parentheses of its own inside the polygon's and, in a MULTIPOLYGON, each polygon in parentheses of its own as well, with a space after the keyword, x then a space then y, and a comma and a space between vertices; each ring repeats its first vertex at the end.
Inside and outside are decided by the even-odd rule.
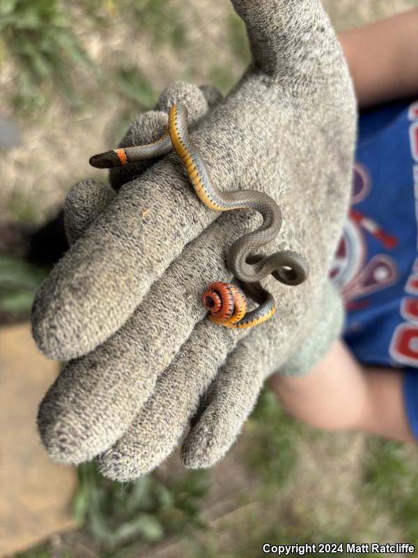
MULTIPOLYGON (((40 436, 53 458, 74 463, 91 459, 123 435, 150 397, 156 377, 204 317, 205 285, 231 277, 224 266, 224 246, 231 234, 242 234, 247 219, 238 212, 227 217, 185 247, 121 329, 66 365, 38 413, 40 436)), ((219 335, 235 333, 217 329, 219 335)))

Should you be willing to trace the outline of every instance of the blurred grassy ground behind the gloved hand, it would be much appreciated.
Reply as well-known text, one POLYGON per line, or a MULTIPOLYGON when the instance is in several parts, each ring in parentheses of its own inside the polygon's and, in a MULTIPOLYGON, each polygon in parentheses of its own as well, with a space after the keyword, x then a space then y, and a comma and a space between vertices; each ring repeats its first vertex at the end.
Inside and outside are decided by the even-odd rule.
MULTIPOLYGON (((325 5, 343 29, 418 1, 325 5)), ((115 144, 169 82, 226 93, 248 59, 226 0, 0 0, 0 114, 22 136, 0 151, 0 225, 53 216, 90 173, 86 153, 115 144)), ((0 312, 27 311, 45 273, 1 256, 0 312)), ((187 472, 177 460, 129 485, 79 467, 79 530, 21 558, 253 558, 265 541, 418 544, 417 451, 303 427, 267 390, 217 467, 187 472)))

